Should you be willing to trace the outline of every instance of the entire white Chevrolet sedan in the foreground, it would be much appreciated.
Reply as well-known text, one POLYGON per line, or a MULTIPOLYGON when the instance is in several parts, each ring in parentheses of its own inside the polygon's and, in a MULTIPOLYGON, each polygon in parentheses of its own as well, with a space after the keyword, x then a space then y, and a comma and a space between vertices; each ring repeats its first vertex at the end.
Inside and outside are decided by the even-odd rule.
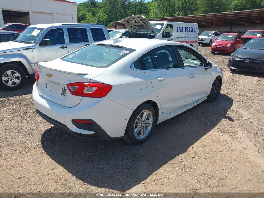
POLYGON ((51 124, 87 139, 146 141, 154 124, 217 99, 222 70, 187 44, 113 39, 39 63, 33 99, 51 124))

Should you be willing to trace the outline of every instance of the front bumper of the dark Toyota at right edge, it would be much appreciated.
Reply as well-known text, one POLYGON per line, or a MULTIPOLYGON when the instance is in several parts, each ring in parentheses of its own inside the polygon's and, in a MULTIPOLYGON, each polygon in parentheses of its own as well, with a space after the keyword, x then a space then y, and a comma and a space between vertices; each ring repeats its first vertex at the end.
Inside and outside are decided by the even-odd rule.
POLYGON ((264 61, 252 61, 245 62, 244 60, 229 60, 227 67, 230 69, 237 69, 250 72, 264 73, 264 61))

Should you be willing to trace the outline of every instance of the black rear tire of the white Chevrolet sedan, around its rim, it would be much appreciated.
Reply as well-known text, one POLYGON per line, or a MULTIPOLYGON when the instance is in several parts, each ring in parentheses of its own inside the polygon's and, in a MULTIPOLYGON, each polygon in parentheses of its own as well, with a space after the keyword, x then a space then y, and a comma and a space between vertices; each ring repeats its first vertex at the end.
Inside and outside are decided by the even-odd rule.
MULTIPOLYGON (((124 140, 126 140, 127 142, 129 142, 131 144, 135 144, 135 145, 139 145, 139 144, 142 144, 143 142, 145 142, 150 137, 150 135, 151 135, 151 133, 153 131, 153 128, 154 128, 154 125, 155 125, 155 118, 156 118, 155 116, 156 116, 155 115, 155 110, 150 104, 143 103, 139 107, 137 107, 137 109, 134 110, 134 112, 132 113, 130 119, 128 120, 127 128, 126 128, 125 135, 124 135, 124 140), (148 113, 151 114, 152 123, 150 125, 151 127, 149 128, 149 130, 147 132, 147 135, 143 136, 141 139, 139 139, 139 135, 137 135, 137 137, 136 137, 136 135, 134 133, 134 129, 137 128, 137 127, 142 128, 142 125, 143 125, 143 127, 145 129, 146 126, 144 124, 139 125, 139 124, 137 124, 137 121, 136 121, 137 117, 142 115, 143 111, 147 111, 148 113)), ((138 131, 137 134, 139 134, 139 132, 141 133, 141 129, 138 131)))

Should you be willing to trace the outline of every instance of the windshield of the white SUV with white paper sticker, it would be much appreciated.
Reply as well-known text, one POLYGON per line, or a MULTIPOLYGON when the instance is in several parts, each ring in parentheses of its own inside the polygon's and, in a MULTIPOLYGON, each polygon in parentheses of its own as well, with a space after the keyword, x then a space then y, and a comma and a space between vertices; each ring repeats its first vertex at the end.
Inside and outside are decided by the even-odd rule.
POLYGON ((19 35, 17 42, 27 44, 35 43, 43 30, 43 28, 28 27, 19 35))

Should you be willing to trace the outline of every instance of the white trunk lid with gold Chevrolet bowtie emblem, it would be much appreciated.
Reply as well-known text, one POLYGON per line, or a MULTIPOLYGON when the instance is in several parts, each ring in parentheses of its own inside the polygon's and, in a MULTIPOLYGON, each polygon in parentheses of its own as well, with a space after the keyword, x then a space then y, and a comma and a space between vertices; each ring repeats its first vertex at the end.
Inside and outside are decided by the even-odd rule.
POLYGON ((67 84, 89 82, 107 70, 107 68, 70 63, 60 59, 39 63, 38 68, 40 75, 37 82, 38 93, 65 107, 76 106, 82 100, 81 96, 70 94, 67 84))

